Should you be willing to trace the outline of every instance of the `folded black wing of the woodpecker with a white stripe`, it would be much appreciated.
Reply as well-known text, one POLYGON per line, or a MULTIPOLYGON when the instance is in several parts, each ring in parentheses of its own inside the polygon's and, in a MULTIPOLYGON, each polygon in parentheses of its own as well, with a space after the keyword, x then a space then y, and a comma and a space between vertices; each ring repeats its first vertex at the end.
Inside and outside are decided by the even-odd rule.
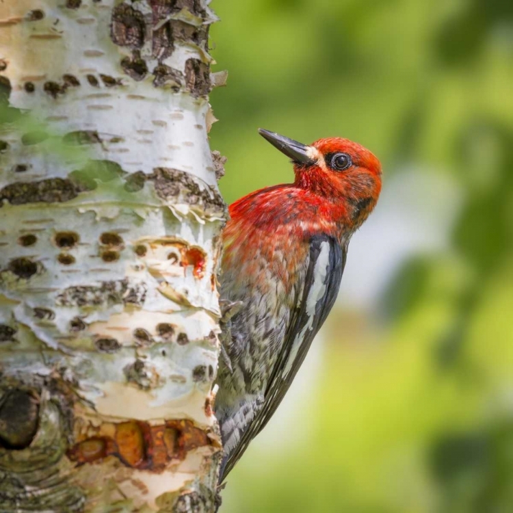
POLYGON ((285 397, 315 334, 337 299, 346 256, 347 246, 341 248, 338 241, 332 237, 312 237, 304 289, 291 316, 285 341, 265 390, 263 404, 241 436, 237 447, 223 462, 220 482, 233 469, 250 441, 261 432, 285 397))

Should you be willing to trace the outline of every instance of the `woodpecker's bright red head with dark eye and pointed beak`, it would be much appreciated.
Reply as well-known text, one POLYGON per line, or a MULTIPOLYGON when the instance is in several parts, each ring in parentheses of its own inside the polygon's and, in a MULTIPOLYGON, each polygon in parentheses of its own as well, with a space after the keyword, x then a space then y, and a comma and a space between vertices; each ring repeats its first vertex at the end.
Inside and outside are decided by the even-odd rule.
POLYGON ((259 133, 292 159, 295 185, 328 200, 345 201, 354 218, 367 218, 381 191, 381 164, 367 148, 341 137, 307 146, 267 130, 259 133))

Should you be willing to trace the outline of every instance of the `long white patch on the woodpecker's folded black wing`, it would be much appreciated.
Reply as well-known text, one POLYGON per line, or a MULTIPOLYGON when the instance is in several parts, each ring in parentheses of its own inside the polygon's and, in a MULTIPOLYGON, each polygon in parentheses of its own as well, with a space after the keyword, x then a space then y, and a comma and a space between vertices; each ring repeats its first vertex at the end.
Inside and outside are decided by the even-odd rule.
POLYGON ((304 335, 308 330, 311 330, 313 327, 313 319, 315 318, 315 308, 319 300, 324 297, 324 293, 326 293, 326 287, 328 286, 328 281, 326 280, 326 274, 328 273, 328 266, 330 264, 330 242, 323 241, 321 242, 321 250, 319 252, 319 257, 315 262, 315 267, 313 269, 313 283, 308 291, 308 296, 306 297, 306 315, 308 315, 308 321, 304 325, 303 329, 295 336, 291 352, 289 354, 289 358, 287 359, 287 365, 282 372, 282 378, 285 378, 287 374, 291 371, 292 365, 294 363, 295 357, 300 350, 302 341, 304 340, 304 335))

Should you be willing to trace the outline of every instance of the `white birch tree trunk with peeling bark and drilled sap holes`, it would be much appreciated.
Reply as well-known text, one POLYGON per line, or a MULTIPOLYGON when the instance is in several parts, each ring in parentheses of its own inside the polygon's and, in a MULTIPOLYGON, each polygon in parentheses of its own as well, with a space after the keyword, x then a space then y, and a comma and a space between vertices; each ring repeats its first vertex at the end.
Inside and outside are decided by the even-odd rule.
POLYGON ((0 0, 2 512, 214 508, 213 21, 0 0))

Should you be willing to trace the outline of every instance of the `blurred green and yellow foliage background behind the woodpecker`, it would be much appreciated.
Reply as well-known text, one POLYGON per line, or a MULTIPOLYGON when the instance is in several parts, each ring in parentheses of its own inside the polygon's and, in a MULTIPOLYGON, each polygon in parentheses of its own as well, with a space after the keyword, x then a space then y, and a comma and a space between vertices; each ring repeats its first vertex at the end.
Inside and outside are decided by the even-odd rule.
POLYGON ((216 0, 228 202, 257 127, 376 153, 382 197, 224 513, 513 511, 513 1, 216 0))

